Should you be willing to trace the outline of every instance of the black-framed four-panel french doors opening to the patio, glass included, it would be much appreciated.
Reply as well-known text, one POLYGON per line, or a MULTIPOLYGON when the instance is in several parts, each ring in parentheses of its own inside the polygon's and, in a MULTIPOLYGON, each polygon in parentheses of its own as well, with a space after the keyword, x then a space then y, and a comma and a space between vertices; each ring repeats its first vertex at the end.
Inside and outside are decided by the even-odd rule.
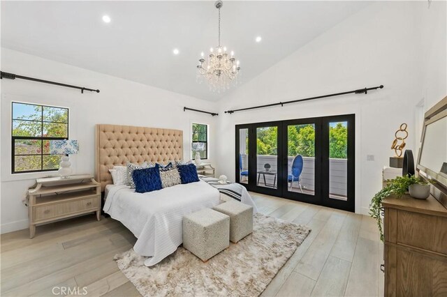
POLYGON ((354 211, 355 115, 236 125, 247 190, 354 211))

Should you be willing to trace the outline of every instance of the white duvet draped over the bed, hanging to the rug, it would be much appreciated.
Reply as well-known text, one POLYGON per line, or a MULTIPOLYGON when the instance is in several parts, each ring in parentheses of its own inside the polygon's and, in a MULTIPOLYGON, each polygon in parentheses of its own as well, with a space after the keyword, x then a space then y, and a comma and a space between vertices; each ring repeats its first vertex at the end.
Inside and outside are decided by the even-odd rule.
POLYGON ((113 185, 106 192, 103 210, 138 238, 133 250, 150 257, 146 266, 159 263, 182 244, 184 215, 220 203, 219 190, 205 181, 144 194, 135 193, 126 185, 113 185))

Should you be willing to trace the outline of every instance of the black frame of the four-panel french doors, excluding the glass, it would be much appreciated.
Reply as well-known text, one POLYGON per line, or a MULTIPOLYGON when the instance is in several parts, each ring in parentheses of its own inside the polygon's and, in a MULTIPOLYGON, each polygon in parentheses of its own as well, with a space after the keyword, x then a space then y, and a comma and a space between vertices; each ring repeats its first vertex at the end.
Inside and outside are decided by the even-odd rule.
POLYGON ((355 114, 344 114, 337 116, 322 116, 307 119, 292 119, 284 121, 272 121, 263 123, 247 123, 235 125, 235 179, 240 183, 240 129, 248 129, 249 154, 248 170, 249 182, 240 183, 251 192, 258 192, 265 195, 282 197, 295 201, 302 201, 311 204, 338 208, 344 211, 355 211, 355 114), (346 201, 330 198, 330 123, 346 121, 347 124, 347 165, 346 165, 346 201), (303 194, 301 192, 288 191, 288 126, 300 124, 315 125, 315 188, 314 195, 303 194), (257 145, 256 128, 272 127, 278 128, 277 139, 277 188, 261 187, 257 181, 257 145))

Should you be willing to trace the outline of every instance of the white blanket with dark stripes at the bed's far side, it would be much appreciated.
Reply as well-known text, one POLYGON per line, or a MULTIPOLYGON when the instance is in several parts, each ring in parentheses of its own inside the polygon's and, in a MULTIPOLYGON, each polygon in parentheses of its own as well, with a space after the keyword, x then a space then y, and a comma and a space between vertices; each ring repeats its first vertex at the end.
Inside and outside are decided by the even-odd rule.
POLYGON ((253 213, 258 212, 256 204, 254 203, 253 199, 251 199, 249 192, 247 192, 247 189, 243 185, 230 182, 222 184, 219 182, 218 178, 209 176, 200 176, 200 179, 207 182, 209 185, 212 185, 212 187, 217 188, 217 190, 221 193, 221 200, 228 201, 230 199, 235 199, 243 204, 253 206, 253 213))

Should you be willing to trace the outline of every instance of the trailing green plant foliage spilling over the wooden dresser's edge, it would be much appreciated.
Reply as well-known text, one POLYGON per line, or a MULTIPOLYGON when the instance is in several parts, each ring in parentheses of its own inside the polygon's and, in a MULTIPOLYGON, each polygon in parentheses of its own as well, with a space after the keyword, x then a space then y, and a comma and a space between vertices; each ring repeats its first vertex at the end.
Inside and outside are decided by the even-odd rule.
POLYGON ((396 195, 397 198, 402 197, 408 190, 410 185, 430 185, 423 179, 412 176, 397 176, 395 179, 387 181, 388 185, 382 190, 376 193, 372 197, 371 204, 369 204, 369 215, 377 220, 377 226, 379 227, 380 240, 383 241, 383 229, 381 220, 382 201, 384 198, 390 195, 396 195))

